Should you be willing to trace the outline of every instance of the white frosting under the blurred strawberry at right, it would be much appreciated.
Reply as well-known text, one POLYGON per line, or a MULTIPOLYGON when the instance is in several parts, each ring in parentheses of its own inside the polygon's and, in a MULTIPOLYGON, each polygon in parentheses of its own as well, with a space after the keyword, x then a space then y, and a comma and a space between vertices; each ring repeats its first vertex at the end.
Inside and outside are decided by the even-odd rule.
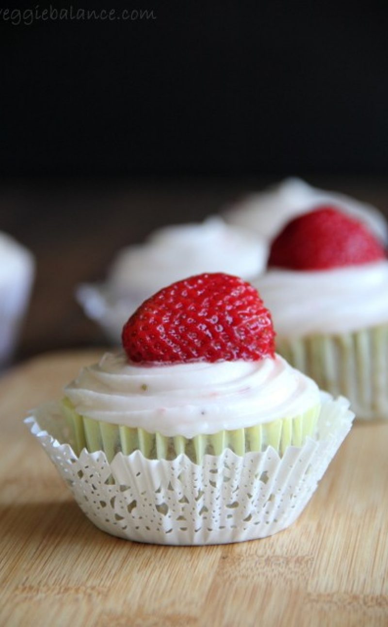
POLYGON ((254 285, 278 335, 343 333, 388 322, 388 261, 321 271, 273 268, 254 285))

